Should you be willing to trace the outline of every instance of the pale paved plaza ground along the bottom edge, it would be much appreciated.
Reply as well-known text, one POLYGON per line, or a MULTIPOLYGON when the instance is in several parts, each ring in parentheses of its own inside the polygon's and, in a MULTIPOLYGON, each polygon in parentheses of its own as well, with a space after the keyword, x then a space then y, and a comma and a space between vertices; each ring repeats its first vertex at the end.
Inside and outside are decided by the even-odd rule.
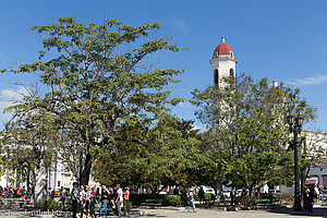
MULTIPOLYGON (((12 210, 14 211, 14 210, 12 210)), ((17 211, 17 210, 15 210, 17 211)), ((48 217, 55 216, 24 216, 24 215, 9 215, 8 210, 0 210, 0 217, 5 218, 27 218, 27 217, 48 217)), ((140 209, 138 213, 143 215, 130 215, 131 218, 136 217, 160 217, 160 218, 279 218, 279 217, 327 217, 327 207, 315 207, 314 213, 293 213, 290 208, 276 208, 267 210, 238 210, 225 211, 221 208, 197 208, 197 213, 187 213, 185 208, 159 208, 159 209, 140 209)), ((62 217, 62 216, 58 216, 62 217)), ((64 216, 70 217, 70 216, 64 216)), ((80 215, 77 216, 80 217, 80 215)), ((85 217, 85 216, 84 216, 85 217)), ((109 216, 114 217, 114 216, 109 216)))

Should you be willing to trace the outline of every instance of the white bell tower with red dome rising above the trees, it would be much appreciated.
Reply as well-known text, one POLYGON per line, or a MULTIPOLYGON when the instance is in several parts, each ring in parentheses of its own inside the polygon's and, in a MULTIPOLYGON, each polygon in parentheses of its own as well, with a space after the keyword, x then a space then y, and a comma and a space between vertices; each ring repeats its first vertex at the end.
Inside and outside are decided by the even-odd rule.
POLYGON ((214 86, 223 87, 222 77, 235 76, 237 62, 233 50, 225 43, 225 37, 222 36, 221 44, 217 46, 210 60, 214 86))

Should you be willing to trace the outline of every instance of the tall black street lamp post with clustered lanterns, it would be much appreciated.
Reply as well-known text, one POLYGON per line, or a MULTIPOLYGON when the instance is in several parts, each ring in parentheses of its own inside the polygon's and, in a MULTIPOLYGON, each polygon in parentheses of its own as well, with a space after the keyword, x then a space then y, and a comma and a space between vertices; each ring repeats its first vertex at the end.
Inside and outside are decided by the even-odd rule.
POLYGON ((299 180, 299 153, 298 153, 298 134, 301 133, 301 128, 303 124, 303 118, 298 116, 294 118, 292 114, 287 117, 288 123, 290 125, 290 132, 294 134, 294 180, 295 180, 295 187, 294 187, 294 211, 302 211, 301 205, 301 194, 300 194, 300 180, 299 180))

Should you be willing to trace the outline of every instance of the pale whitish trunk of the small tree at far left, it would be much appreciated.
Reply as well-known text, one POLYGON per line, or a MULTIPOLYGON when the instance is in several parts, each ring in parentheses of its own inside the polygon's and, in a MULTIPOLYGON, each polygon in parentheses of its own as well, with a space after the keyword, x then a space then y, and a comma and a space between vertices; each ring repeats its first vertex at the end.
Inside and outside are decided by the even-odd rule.
POLYGON ((35 202, 34 205, 36 207, 41 206, 41 199, 44 199, 47 195, 47 169, 41 161, 40 166, 36 168, 35 173, 35 202))

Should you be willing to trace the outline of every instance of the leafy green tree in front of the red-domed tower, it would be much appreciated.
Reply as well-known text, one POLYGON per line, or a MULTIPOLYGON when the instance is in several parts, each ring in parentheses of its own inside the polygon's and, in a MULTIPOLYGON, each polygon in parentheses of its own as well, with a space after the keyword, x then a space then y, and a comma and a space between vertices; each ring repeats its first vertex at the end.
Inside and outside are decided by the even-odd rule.
MULTIPOLYGON (((223 174, 221 182, 247 189, 253 195, 264 184, 287 182, 292 174, 292 156, 286 116, 296 110, 306 120, 314 118, 314 108, 301 99, 299 89, 281 84, 270 87, 266 78, 254 82, 249 75, 225 78, 222 88, 208 87, 193 92, 196 117, 206 124, 210 161, 223 174), (225 179, 225 180, 222 180, 225 179)), ((211 165, 214 166, 214 165, 211 165)))

